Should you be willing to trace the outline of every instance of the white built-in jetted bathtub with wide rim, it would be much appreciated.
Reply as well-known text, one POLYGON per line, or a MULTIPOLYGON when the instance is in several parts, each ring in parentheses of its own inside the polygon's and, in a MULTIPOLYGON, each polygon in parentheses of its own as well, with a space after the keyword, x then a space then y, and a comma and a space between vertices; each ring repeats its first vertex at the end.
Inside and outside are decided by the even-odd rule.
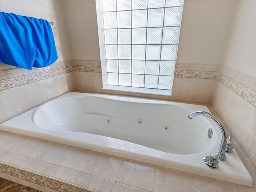
POLYGON ((217 169, 204 156, 220 148, 218 126, 204 116, 206 106, 70 92, 1 124, 1 130, 38 137, 252 186, 234 150, 217 169), (208 138, 208 129, 213 136, 208 138))

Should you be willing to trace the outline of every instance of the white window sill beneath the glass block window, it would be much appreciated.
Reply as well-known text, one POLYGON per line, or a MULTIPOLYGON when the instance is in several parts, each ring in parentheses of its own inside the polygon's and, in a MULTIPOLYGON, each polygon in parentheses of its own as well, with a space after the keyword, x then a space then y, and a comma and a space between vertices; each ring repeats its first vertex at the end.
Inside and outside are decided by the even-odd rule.
POLYGON ((134 93, 145 93, 145 94, 153 94, 153 95, 172 96, 172 90, 163 90, 163 89, 126 87, 126 86, 118 86, 118 85, 106 85, 102 89, 108 89, 108 90, 114 90, 114 91, 127 91, 127 92, 134 92, 134 93))

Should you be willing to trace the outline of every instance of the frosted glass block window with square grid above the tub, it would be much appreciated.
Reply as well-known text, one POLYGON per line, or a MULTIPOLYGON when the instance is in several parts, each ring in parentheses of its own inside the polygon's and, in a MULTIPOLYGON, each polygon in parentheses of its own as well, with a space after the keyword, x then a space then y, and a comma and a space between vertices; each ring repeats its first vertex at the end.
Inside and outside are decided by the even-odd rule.
POLYGON ((108 85, 172 90, 182 9, 183 0, 102 0, 108 85))

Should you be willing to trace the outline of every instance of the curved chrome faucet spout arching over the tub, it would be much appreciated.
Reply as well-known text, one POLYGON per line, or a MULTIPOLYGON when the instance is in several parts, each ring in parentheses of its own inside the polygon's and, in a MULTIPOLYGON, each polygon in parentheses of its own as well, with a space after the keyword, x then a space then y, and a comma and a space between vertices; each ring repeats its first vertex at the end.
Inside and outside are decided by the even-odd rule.
POLYGON ((226 129, 225 129, 223 123, 217 117, 215 117, 214 115, 207 113, 205 111, 195 111, 193 113, 190 113, 188 115, 188 118, 192 119, 196 115, 206 116, 206 117, 212 119, 218 125, 218 127, 220 128, 220 131, 221 131, 222 140, 220 143, 220 149, 215 154, 217 155, 218 160, 226 160, 225 147, 226 147, 227 137, 226 137, 226 129))

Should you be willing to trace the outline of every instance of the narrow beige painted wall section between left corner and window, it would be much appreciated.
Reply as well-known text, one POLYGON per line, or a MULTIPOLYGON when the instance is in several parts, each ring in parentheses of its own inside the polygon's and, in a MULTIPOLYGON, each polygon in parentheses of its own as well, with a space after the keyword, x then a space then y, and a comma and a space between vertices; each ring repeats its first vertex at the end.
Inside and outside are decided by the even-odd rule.
POLYGON ((100 60, 95 0, 63 1, 73 59, 100 60))

